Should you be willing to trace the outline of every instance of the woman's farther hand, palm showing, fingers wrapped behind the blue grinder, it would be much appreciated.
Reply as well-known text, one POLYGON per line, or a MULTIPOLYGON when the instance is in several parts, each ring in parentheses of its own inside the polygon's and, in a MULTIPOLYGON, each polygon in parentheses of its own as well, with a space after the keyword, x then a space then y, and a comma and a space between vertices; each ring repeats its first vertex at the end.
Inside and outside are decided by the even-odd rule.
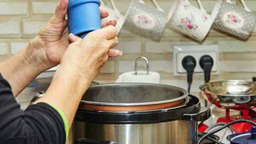
MULTIPOLYGON (((41 29, 36 38, 31 41, 38 58, 47 66, 52 68, 60 63, 62 55, 69 46, 67 18, 65 18, 68 9, 68 0, 60 0, 55 14, 41 29)), ((101 19, 109 14, 106 10, 100 10, 101 19)), ((102 27, 108 25, 116 26, 116 21, 106 21, 101 24, 102 27)), ((110 57, 121 55, 119 50, 112 50, 110 57)))

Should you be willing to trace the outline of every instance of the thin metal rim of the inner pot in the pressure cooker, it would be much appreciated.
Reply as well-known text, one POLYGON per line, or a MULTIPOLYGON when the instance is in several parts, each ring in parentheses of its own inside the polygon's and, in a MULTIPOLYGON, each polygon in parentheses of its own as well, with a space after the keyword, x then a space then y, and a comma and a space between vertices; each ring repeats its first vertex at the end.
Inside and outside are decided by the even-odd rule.
POLYGON ((177 98, 173 98, 170 100, 164 100, 164 101, 155 101, 155 102, 141 102, 141 103, 107 103, 107 102, 93 102, 93 101, 85 101, 85 100, 81 100, 80 103, 86 103, 86 104, 90 104, 90 105, 104 105, 104 106, 151 106, 151 105, 158 105, 158 104, 163 104, 163 103, 170 103, 170 102, 175 102, 175 101, 179 101, 182 100, 184 98, 186 98, 188 96, 188 91, 181 88, 181 87, 177 87, 177 86, 172 86, 172 85, 164 85, 164 84, 148 84, 148 83, 110 83, 110 84, 98 84, 98 85, 93 85, 90 86, 90 88, 94 88, 94 87, 101 87, 101 86, 115 86, 115 85, 151 85, 151 86, 169 86, 172 89, 176 89, 180 92, 183 93, 182 96, 177 97, 177 98))

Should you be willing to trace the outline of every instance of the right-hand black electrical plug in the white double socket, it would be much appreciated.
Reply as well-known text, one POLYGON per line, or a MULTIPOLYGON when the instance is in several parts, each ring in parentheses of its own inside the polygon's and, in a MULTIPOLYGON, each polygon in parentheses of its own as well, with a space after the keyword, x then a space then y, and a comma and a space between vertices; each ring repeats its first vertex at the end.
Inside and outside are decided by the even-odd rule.
POLYGON ((210 55, 203 55, 199 60, 199 64, 204 71, 204 81, 209 82, 213 67, 213 58, 210 55))

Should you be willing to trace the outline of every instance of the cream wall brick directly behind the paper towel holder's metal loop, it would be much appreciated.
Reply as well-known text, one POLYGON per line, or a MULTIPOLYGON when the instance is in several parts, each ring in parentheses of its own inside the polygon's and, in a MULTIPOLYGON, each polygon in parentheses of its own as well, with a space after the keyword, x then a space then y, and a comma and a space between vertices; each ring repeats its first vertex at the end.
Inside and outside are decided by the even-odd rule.
MULTIPOLYGON (((127 71, 134 71, 135 63, 134 61, 119 61, 118 62, 118 72, 124 73, 127 71)), ((152 60, 149 61, 150 71, 165 71, 166 73, 171 73, 173 71, 173 66, 171 61, 165 60, 152 60)), ((138 61, 137 70, 146 70, 145 61, 138 61)))

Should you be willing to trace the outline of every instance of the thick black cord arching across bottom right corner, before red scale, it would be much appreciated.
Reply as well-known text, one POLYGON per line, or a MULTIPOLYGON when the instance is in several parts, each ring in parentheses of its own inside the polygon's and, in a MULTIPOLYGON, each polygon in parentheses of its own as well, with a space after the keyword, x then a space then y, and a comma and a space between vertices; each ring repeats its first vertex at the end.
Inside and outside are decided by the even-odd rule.
MULTIPOLYGON (((225 124, 224 126, 220 127, 220 128, 217 128, 215 130, 213 130, 212 132, 209 132, 208 134, 204 135, 201 139, 198 140, 198 143, 197 144, 201 144, 201 142, 206 139, 207 137, 209 137, 210 135, 216 133, 216 132, 219 132, 220 130, 226 128, 226 127, 229 127, 233 124, 236 124, 236 123, 250 123, 254 126, 256 126, 256 123, 255 122, 252 122, 252 121, 249 121, 247 119, 239 119, 239 120, 236 120, 236 121, 233 121, 233 122, 230 122, 228 124, 225 124)), ((219 144, 224 144, 224 143, 219 143, 219 144)))

